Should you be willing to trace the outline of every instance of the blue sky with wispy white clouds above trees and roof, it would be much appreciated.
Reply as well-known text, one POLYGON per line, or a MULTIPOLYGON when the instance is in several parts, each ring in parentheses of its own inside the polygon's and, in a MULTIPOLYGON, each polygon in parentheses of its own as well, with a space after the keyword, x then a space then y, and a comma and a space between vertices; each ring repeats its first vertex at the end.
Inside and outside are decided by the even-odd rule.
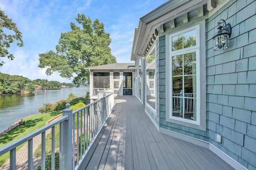
POLYGON ((0 9, 17 24, 22 32, 23 47, 12 44, 13 61, 6 63, 0 72, 22 75, 31 80, 37 78, 71 82, 55 72, 51 76, 39 68, 39 53, 55 50, 60 33, 70 31, 70 22, 79 25, 75 18, 84 14, 92 21, 99 19, 110 33, 111 53, 118 63, 130 61, 134 30, 140 17, 154 10, 167 0, 1 0, 0 9))

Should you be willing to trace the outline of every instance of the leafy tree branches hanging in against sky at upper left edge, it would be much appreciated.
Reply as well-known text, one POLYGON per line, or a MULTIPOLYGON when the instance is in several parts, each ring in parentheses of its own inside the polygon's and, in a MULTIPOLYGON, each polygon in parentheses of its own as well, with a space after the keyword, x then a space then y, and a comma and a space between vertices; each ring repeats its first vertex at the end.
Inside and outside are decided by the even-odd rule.
MULTIPOLYGON (((0 57, 8 57, 8 59, 13 60, 14 55, 10 54, 8 49, 11 47, 11 44, 17 41, 16 45, 19 47, 23 46, 22 33, 16 27, 16 23, 12 22, 12 19, 8 18, 4 14, 4 11, 0 10, 0 57), (4 29, 8 29, 6 34, 4 29), (14 34, 12 34, 14 31, 14 34)), ((0 66, 3 66, 4 61, 0 60, 0 66)))

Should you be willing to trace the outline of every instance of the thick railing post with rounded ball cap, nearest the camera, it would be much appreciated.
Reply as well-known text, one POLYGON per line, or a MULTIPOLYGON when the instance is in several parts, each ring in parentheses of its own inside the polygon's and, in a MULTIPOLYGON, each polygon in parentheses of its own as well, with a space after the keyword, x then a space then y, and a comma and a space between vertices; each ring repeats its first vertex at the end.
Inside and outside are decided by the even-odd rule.
MULTIPOLYGON (((62 143, 62 168, 71 170, 72 169, 72 112, 70 104, 66 104, 66 109, 62 110, 63 117, 66 120, 63 121, 63 143, 62 143)), ((61 140, 61 139, 60 139, 61 140)), ((74 162, 73 162, 74 163, 74 162)))

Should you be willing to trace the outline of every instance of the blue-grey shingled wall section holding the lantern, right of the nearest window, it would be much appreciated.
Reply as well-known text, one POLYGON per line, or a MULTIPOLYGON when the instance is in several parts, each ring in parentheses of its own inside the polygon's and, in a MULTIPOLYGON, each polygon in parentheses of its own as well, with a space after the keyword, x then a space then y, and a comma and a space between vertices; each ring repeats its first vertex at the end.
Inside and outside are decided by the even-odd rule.
POLYGON ((255 21, 255 0, 230 0, 206 20, 208 141, 248 169, 256 169, 255 21), (232 27, 231 45, 213 51, 212 36, 221 19, 232 27))

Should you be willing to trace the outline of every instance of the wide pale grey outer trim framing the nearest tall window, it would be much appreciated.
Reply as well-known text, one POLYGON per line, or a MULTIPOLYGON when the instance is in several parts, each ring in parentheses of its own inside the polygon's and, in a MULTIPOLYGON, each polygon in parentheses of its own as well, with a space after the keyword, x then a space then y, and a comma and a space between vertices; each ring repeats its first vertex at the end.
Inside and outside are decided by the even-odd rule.
MULTIPOLYGON (((179 30, 182 29, 182 31, 178 31, 178 32, 170 32, 169 34, 165 34, 165 45, 166 45, 166 121, 170 122, 170 123, 175 123, 178 125, 183 125, 186 127, 191 127, 194 129, 199 129, 202 131, 206 131, 206 33, 205 33, 205 20, 201 20, 197 23, 192 23, 190 25, 186 25, 185 27, 183 27, 184 29, 182 29, 181 27, 179 28, 179 30), (197 76, 197 78, 200 78, 200 125, 196 125, 193 123, 188 123, 185 121, 181 121, 181 120, 176 120, 176 119, 170 119, 170 114, 172 114, 172 109, 170 110, 170 106, 168 104, 170 104, 172 102, 172 98, 170 98, 170 70, 172 69, 172 67, 170 67, 170 35, 174 36, 174 35, 178 35, 182 32, 186 32, 187 30, 191 30, 194 27, 199 27, 200 30, 198 29, 198 36, 200 36, 200 42, 196 42, 196 46, 200 47, 200 64, 197 64, 197 67, 200 67, 200 76, 197 76), (169 80, 168 80, 169 79, 169 80), (171 100, 171 101, 170 101, 171 100)), ((198 33, 197 32, 197 33, 198 33)), ((193 47, 192 47, 193 48, 193 47)), ((183 51, 188 51, 192 48, 186 48, 183 51)), ((180 50, 182 51, 182 50, 180 50)), ((198 71, 197 71, 198 72, 198 71)), ((199 85, 199 84, 197 84, 199 85)), ((199 94, 199 92, 198 92, 199 94)))

